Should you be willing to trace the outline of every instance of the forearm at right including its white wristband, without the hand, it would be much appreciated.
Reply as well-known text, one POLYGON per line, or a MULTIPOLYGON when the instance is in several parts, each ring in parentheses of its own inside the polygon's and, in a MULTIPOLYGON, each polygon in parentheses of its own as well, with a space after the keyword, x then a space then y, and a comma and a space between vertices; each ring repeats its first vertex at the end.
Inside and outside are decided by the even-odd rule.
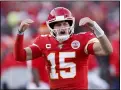
POLYGON ((94 33, 96 37, 98 38, 101 48, 106 54, 110 54, 113 52, 112 45, 110 41, 108 40, 107 36, 105 35, 104 31, 100 28, 100 26, 94 21, 93 22, 93 27, 92 29, 94 30, 94 33))

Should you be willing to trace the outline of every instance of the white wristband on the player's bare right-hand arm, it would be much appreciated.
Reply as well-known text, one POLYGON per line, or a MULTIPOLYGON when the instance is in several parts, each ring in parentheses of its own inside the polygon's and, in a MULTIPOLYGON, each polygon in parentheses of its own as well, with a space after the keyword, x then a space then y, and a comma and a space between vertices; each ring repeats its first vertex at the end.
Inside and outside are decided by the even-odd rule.
POLYGON ((93 21, 93 27, 91 27, 93 30, 94 30, 94 33, 96 35, 97 38, 100 38, 104 35, 104 31, 100 28, 100 26, 95 22, 93 21))

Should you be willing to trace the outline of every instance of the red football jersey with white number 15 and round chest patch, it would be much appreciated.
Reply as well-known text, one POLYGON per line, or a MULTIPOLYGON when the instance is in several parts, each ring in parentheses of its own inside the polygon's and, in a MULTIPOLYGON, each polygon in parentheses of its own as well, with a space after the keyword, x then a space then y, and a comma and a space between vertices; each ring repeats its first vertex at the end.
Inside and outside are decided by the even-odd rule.
POLYGON ((47 60, 51 89, 87 89, 88 56, 86 48, 95 36, 90 32, 73 34, 59 43, 50 35, 41 35, 34 41, 47 60))

